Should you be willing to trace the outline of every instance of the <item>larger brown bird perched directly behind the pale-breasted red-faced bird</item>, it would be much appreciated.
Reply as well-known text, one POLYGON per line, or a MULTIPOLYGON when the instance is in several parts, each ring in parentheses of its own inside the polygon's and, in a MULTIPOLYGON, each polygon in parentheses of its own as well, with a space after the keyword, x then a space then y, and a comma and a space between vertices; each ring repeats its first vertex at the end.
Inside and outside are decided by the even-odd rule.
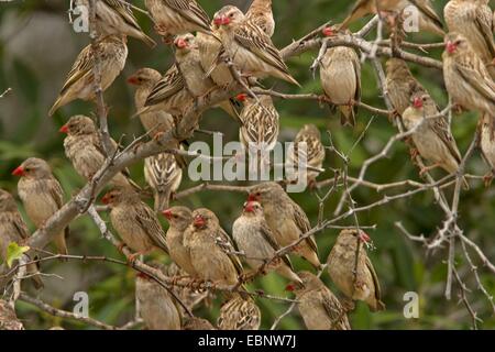
MULTIPOLYGON (((263 206, 266 222, 276 243, 280 246, 294 244, 311 230, 305 211, 276 183, 253 186, 248 200, 257 201, 263 206)), ((312 237, 301 241, 293 252, 305 257, 316 268, 321 268, 318 246, 312 237)))

